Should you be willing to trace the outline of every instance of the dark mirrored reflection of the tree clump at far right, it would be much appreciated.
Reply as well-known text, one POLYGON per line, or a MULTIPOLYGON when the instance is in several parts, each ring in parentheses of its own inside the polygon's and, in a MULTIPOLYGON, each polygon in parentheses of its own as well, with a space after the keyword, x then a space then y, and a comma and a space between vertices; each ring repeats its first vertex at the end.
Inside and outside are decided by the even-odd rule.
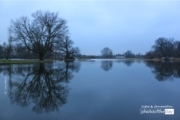
POLYGON ((152 68, 156 79, 159 81, 173 80, 173 78, 180 77, 180 63, 179 62, 153 62, 146 61, 146 66, 152 68))

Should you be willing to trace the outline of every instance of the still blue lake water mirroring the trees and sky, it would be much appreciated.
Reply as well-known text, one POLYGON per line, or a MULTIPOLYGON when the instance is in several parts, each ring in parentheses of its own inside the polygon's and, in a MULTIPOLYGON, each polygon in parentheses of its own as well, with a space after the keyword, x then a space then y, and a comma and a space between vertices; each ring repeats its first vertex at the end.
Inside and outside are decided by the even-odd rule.
POLYGON ((0 100, 0 120, 179 120, 180 63, 0 65, 0 100))

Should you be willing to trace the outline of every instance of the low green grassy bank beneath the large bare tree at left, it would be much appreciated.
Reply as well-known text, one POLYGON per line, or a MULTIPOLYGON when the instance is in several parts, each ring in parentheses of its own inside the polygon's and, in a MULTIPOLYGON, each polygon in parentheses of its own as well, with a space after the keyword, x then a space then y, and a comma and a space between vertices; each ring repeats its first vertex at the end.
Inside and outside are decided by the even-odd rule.
POLYGON ((47 63, 52 62, 52 60, 40 61, 38 59, 26 59, 26 60, 4 60, 0 59, 0 64, 31 64, 31 63, 47 63))

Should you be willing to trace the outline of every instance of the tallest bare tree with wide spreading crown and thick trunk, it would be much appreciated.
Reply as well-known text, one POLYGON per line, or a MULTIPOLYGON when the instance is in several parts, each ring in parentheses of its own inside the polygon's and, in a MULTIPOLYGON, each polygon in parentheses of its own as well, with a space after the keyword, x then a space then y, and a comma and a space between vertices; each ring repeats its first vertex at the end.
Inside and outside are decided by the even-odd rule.
POLYGON ((57 41, 68 33, 66 21, 58 17, 58 13, 37 11, 32 14, 32 20, 21 17, 12 21, 9 27, 12 41, 22 43, 30 51, 39 55, 39 60, 44 60, 47 52, 57 41))

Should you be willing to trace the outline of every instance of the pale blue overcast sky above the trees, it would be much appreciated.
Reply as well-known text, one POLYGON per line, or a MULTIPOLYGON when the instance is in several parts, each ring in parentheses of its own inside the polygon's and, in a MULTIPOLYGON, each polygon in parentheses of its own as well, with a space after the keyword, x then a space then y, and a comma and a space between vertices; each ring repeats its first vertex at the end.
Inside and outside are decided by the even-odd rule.
POLYGON ((11 20, 37 10, 59 12, 86 55, 100 55, 104 47, 144 54, 159 37, 180 40, 180 1, 0 0, 0 44, 7 42, 11 20))

